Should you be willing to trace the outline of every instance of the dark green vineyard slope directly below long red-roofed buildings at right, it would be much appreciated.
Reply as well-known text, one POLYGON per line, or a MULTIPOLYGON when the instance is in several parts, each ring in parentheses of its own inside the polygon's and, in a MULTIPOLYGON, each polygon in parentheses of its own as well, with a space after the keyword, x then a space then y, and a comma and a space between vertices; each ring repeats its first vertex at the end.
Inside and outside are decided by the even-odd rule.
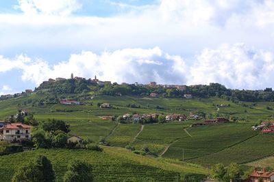
POLYGON ((191 127, 188 132, 192 137, 182 138, 171 145, 164 157, 189 160, 231 147, 238 142, 255 136, 249 123, 225 123, 203 127, 191 127))

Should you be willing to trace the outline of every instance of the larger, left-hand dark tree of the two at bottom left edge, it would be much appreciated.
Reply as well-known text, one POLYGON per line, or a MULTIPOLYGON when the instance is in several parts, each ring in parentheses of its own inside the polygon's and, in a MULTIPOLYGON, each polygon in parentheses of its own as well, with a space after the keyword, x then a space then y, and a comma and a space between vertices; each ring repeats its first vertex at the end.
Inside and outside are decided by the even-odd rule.
POLYGON ((55 172, 47 157, 39 155, 29 164, 19 168, 12 177, 12 182, 53 182, 55 172))

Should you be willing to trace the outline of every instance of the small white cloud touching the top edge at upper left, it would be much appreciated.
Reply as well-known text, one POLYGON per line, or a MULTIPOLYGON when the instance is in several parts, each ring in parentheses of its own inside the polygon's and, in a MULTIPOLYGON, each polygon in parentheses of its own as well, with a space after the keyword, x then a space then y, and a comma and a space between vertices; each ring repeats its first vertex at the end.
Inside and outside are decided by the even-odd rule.
POLYGON ((66 16, 79 10, 78 0, 18 0, 18 6, 25 14, 47 14, 66 16))

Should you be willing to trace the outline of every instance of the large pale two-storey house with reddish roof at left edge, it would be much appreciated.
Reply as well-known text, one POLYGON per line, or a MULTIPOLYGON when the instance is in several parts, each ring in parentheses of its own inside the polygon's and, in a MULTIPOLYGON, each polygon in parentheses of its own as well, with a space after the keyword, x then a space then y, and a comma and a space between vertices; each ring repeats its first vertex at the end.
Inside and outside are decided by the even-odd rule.
POLYGON ((22 123, 10 123, 0 128, 0 140, 18 141, 18 140, 31 140, 30 125, 22 123))

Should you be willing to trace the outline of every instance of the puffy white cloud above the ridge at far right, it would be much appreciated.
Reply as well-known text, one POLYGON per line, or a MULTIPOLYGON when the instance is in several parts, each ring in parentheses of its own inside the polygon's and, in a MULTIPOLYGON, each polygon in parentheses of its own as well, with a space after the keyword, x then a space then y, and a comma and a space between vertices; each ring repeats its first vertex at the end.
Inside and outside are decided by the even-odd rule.
POLYGON ((229 88, 274 87, 274 54, 245 44, 204 49, 190 68, 188 84, 220 82, 229 88))

